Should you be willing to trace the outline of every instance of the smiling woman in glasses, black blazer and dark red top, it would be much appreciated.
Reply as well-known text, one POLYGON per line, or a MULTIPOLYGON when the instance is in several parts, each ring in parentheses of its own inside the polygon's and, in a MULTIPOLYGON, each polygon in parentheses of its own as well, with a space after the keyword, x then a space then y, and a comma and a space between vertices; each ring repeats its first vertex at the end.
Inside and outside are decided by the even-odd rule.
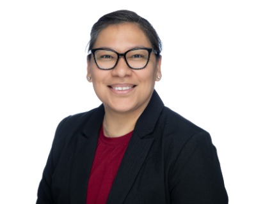
POLYGON ((163 105, 161 40, 136 13, 92 27, 87 78, 102 105, 63 119, 37 203, 228 203, 209 133, 163 105))

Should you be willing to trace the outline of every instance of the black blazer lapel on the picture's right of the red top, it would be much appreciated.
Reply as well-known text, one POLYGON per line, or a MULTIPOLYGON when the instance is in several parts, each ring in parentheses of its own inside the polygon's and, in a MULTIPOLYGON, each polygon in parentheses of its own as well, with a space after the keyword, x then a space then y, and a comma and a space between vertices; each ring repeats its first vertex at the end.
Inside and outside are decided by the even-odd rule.
POLYGON ((163 102, 154 91, 150 103, 136 123, 134 133, 111 187, 107 204, 124 203, 154 141, 154 136, 150 133, 154 131, 163 107, 163 102))

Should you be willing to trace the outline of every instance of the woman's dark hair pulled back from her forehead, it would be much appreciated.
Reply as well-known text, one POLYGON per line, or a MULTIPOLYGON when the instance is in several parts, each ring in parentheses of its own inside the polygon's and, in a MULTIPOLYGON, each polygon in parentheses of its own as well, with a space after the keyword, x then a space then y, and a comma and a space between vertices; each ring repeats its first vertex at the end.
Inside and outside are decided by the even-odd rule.
POLYGON ((141 30, 148 37, 148 40, 150 41, 150 43, 152 43, 153 49, 157 51, 157 55, 159 56, 159 54, 162 51, 162 42, 158 34, 156 33, 156 30, 150 24, 150 22, 148 22, 148 20, 140 17, 140 15, 138 15, 134 11, 129 11, 129 10, 113 11, 111 13, 108 13, 100 17, 99 20, 92 27, 92 31, 90 34, 91 40, 89 42, 88 50, 91 50, 93 48, 93 45, 97 40, 97 37, 99 36, 100 31, 108 27, 108 25, 122 24, 125 22, 138 24, 141 30))

